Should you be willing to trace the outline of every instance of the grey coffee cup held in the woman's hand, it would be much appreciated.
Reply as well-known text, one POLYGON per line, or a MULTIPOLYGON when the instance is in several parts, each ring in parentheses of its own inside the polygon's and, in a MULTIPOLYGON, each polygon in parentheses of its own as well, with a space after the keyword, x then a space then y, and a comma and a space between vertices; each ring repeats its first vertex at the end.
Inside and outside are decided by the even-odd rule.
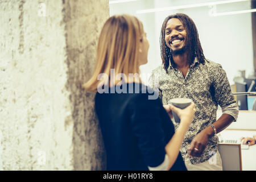
MULTIPOLYGON (((185 107, 191 105, 192 100, 189 98, 172 98, 169 101, 169 104, 172 104, 180 109, 185 109, 185 107)), ((174 117, 174 121, 176 123, 180 122, 180 118, 177 116, 177 114, 175 113, 175 111, 172 110, 172 115, 174 117)))

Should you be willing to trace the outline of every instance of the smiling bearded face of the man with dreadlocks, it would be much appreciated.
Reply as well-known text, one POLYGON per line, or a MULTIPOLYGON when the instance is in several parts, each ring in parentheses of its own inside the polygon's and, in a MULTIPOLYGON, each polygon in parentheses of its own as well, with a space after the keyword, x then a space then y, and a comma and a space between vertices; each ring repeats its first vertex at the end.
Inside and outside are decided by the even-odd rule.
POLYGON ((172 52, 179 52, 179 50, 185 48, 186 36, 187 32, 179 19, 171 18, 168 20, 164 39, 172 52))

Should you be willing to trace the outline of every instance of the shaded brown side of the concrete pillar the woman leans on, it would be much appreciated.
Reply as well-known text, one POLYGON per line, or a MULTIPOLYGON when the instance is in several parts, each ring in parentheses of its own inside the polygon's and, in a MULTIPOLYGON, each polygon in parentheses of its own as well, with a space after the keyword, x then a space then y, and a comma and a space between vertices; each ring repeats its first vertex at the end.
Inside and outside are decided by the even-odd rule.
POLYGON ((103 143, 94 112, 94 94, 81 88, 89 80, 95 64, 97 38, 109 18, 107 0, 65 1, 67 30, 67 86, 71 92, 74 122, 74 163, 76 169, 104 169, 103 143))

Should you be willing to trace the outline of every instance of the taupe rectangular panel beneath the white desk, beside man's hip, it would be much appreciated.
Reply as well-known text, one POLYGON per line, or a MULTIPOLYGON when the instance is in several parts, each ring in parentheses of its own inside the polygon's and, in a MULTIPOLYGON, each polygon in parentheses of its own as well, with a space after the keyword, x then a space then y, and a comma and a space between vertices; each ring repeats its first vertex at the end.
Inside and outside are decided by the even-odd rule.
POLYGON ((221 143, 218 145, 223 171, 242 171, 241 144, 221 143))

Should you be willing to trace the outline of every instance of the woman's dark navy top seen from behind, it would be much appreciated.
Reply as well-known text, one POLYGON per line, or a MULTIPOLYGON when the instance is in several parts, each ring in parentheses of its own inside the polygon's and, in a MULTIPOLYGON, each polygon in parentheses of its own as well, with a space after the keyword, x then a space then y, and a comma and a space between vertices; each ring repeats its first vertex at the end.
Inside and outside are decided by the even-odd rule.
MULTIPOLYGON (((138 83, 127 84, 127 92, 131 86, 131 93, 96 94, 108 170, 159 166, 166 155, 164 148, 174 135, 174 126, 159 98, 148 100, 148 88, 138 83), (135 93, 137 86, 140 89, 135 93)), ((186 170, 180 154, 172 169, 186 170)))

